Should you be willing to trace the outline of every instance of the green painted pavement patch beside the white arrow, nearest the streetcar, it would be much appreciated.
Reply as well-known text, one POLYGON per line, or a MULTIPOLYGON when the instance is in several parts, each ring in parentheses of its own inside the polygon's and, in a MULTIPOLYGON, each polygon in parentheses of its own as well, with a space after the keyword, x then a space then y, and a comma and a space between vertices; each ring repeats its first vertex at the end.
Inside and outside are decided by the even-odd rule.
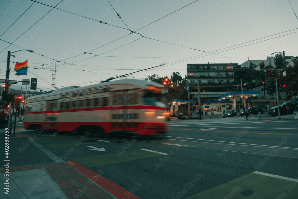
POLYGON ((121 152, 120 156, 119 156, 119 153, 110 153, 105 155, 89 156, 85 158, 76 158, 73 160, 80 164, 83 164, 88 168, 91 168, 96 166, 103 166, 103 165, 127 162, 132 160, 139 160, 143 158, 151 158, 159 155, 162 155, 162 154, 138 149, 133 151, 126 151, 123 153, 121 152))

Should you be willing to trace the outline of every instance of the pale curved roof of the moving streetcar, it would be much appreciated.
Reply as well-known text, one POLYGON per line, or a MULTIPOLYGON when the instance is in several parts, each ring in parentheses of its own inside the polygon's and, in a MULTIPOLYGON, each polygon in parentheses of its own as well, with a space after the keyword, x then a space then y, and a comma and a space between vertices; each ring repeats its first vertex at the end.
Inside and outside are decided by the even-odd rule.
POLYGON ((41 94, 41 95, 35 95, 35 96, 31 96, 29 98, 27 98, 27 100, 30 99, 34 99, 34 98, 43 98, 43 97, 49 97, 49 96, 53 96, 53 95, 60 95, 60 94, 64 94, 64 93, 69 93, 69 92, 74 92, 74 91, 82 91, 82 90, 88 90, 88 89, 95 89, 98 87, 105 87, 105 86, 112 86, 115 84, 122 84, 122 85, 133 85, 134 89, 137 88, 146 88, 148 86, 154 86, 157 88, 162 89, 163 85, 157 83, 157 82, 150 82, 150 81, 146 81, 146 80, 138 80, 138 79, 121 79, 121 80, 115 80, 115 81, 108 81, 108 82, 103 82, 103 83, 99 83, 99 84, 92 84, 89 86, 85 86, 85 87, 79 87, 79 86, 71 86, 71 87, 65 87, 65 88, 61 88, 52 92, 47 92, 45 94, 41 94))

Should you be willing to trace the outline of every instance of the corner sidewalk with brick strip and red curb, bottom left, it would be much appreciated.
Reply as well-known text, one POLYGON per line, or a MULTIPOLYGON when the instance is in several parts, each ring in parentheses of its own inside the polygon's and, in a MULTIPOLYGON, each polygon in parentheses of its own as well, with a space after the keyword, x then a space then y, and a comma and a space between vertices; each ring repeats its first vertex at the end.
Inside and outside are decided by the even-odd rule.
POLYGON ((28 148, 18 157, 17 146, 21 146, 20 144, 26 141, 29 142, 26 137, 18 133, 16 136, 9 137, 11 159, 4 160, 4 166, 1 168, 0 198, 117 199, 127 198, 129 195, 130 198, 140 199, 75 161, 62 161, 48 149, 32 141, 32 138, 33 144, 28 145, 28 148), (59 159, 61 161, 57 161, 59 159))

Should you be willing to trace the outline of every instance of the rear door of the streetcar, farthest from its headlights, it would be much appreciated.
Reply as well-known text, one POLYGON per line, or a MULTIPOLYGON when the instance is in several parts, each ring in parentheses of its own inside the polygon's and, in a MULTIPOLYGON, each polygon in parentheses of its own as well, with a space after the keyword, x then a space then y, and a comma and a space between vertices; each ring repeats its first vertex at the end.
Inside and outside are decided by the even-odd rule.
POLYGON ((56 129, 58 121, 58 103, 57 100, 49 100, 46 105, 46 128, 56 129))

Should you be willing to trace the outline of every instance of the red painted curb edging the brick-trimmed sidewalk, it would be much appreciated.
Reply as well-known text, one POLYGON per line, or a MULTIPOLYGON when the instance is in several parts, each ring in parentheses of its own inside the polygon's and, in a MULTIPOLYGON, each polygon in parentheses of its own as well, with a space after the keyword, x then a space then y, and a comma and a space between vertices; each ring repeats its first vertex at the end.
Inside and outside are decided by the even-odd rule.
POLYGON ((87 178, 90 178, 92 181, 97 183, 99 186, 103 187, 103 189, 107 190, 111 194, 115 195, 117 198, 131 198, 131 199, 141 199, 134 195, 133 193, 127 191, 126 189, 122 188, 121 186, 109 181, 108 179, 104 178, 103 176, 97 174, 96 172, 88 169, 86 166, 83 166, 76 161, 66 161, 70 166, 77 169, 87 178))

